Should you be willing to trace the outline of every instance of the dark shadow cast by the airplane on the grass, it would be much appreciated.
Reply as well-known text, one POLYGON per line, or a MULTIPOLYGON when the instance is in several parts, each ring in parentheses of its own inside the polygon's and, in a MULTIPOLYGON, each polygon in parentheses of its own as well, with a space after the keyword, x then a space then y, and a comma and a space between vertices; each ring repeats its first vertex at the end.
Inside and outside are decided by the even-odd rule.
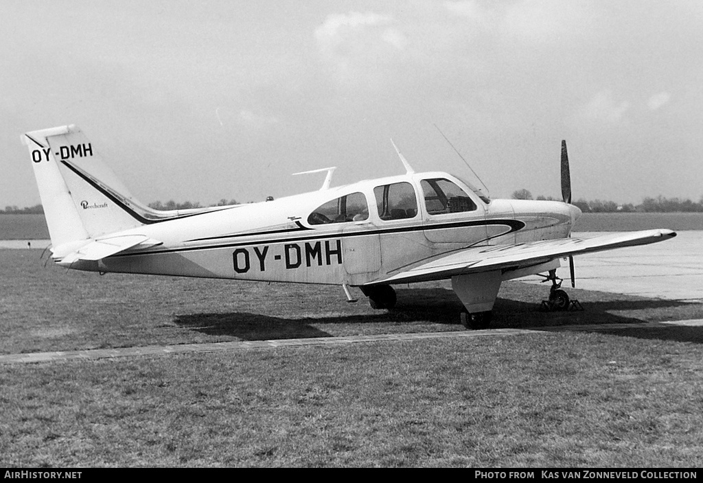
MULTIPOLYGON (((364 300, 359 300, 364 303, 364 300)), ((641 298, 638 300, 607 300, 583 302, 583 311, 546 312, 534 302, 498 298, 494 307, 492 329, 539 329, 547 326, 589 326, 589 332, 618 336, 676 340, 703 343, 700 326, 632 326, 613 328, 611 324, 641 324, 637 317, 624 317, 612 312, 619 310, 675 310, 690 303, 679 300, 641 298), (602 329, 598 326, 602 325, 602 329)), ((272 302, 273 305, 273 302, 272 302)), ((335 307, 339 307, 335 305, 335 307)), ((232 336, 242 340, 276 340, 290 338, 333 337, 319 329, 325 324, 402 324, 408 329, 413 323, 457 325, 456 313, 460 301, 449 289, 405 289, 398 293, 396 310, 370 315, 340 315, 333 317, 274 317, 249 312, 200 313, 176 315, 176 325, 210 336, 232 336)), ((576 328, 574 328, 576 329, 576 328)), ((490 330, 490 329, 489 329, 490 330)))

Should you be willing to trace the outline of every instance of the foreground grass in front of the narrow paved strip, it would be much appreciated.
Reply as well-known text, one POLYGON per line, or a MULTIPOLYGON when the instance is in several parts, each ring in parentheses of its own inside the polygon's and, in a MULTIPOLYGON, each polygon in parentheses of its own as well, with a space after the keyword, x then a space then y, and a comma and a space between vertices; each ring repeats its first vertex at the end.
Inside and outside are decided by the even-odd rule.
POLYGON ((702 355, 570 333, 4 367, 0 464, 697 468, 702 355))

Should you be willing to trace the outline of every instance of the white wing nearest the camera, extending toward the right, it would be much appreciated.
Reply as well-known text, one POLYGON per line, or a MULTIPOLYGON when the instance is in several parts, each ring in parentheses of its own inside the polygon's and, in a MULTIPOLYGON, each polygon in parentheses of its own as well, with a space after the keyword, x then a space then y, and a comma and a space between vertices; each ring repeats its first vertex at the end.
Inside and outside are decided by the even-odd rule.
POLYGON ((375 280, 368 285, 426 282, 494 270, 508 272, 569 255, 646 245, 673 237, 676 237, 676 232, 671 230, 643 230, 605 234, 587 239, 560 238, 512 245, 475 246, 396 270, 389 277, 375 280))

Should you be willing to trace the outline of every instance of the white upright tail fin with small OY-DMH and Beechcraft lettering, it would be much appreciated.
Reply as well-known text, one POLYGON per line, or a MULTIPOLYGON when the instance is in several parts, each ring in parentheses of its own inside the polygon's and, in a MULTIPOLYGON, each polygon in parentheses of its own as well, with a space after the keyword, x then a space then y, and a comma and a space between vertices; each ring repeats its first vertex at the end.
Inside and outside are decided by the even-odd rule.
POLYGON ((74 125, 26 133, 53 246, 148 223, 96 148, 74 125))

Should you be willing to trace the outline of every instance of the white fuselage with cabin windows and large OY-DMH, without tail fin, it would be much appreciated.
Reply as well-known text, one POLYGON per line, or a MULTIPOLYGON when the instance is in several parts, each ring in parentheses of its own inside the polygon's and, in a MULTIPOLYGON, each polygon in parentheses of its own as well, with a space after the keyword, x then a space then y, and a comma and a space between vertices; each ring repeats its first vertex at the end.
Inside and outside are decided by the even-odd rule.
POLYGON ((124 230, 159 244, 72 268, 358 286, 467 247, 565 238, 580 213, 408 173, 124 230))

